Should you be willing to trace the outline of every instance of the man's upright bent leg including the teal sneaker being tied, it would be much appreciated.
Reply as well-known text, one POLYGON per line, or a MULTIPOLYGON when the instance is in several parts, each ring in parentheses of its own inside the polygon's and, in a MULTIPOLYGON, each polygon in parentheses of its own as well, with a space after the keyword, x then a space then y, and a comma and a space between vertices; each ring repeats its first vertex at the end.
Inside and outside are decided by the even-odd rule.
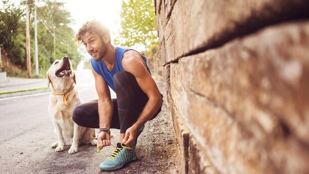
MULTIPOLYGON (((126 130, 137 121, 140 113, 148 101, 147 95, 141 90, 135 77, 129 72, 115 73, 114 85, 117 95, 120 139, 117 144, 117 148, 112 155, 110 155, 110 157, 100 165, 100 168, 103 171, 114 171, 120 169, 126 164, 137 159, 135 149, 124 147, 121 142, 125 137, 126 130)), ((159 113, 159 111, 155 114, 155 116, 159 113)), ((131 143, 132 147, 135 147, 137 137, 143 129, 144 125, 137 133, 135 142, 131 143)))

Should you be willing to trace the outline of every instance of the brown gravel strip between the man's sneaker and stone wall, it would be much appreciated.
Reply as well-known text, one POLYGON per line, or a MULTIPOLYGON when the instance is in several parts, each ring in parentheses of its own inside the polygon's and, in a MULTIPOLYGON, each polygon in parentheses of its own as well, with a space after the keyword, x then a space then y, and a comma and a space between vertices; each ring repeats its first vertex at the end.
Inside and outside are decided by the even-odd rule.
POLYGON ((138 161, 115 172, 102 174, 179 174, 179 162, 163 82, 157 82, 164 95, 160 114, 145 125, 136 148, 138 161))

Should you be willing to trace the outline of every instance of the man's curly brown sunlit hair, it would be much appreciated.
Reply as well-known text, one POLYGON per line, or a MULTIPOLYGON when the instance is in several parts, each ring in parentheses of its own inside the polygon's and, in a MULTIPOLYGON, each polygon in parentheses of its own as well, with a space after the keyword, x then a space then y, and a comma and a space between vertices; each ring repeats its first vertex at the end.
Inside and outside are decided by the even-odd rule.
POLYGON ((108 35, 110 37, 110 43, 111 43, 111 34, 108 27, 106 27, 103 23, 99 22, 98 20, 89 20, 86 21, 83 26, 78 30, 78 32, 75 35, 75 40, 77 43, 82 43, 82 36, 85 33, 95 33, 101 36, 108 35))

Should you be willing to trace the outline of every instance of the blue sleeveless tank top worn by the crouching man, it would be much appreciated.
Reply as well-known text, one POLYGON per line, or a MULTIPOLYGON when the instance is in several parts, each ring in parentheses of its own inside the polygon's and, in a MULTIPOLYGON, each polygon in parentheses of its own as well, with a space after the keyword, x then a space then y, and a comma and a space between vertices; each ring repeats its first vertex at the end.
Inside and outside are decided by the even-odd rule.
MULTIPOLYGON (((122 66, 122 58, 124 56, 124 53, 128 50, 134 50, 134 49, 131 49, 129 47, 118 47, 118 46, 116 47, 115 64, 114 64, 113 69, 110 72, 108 72, 103 60, 95 61, 93 58, 91 58, 92 68, 104 78, 104 80, 106 81, 108 86, 110 86, 113 89, 113 91, 115 91, 115 92, 116 92, 116 90, 115 90, 115 87, 114 87, 113 77, 114 77, 114 74, 116 72, 124 71, 124 67, 122 66)), ((146 63, 146 67, 147 67, 148 72, 151 74, 150 69, 147 65, 146 57, 142 56, 142 58, 143 58, 144 62, 146 63)))

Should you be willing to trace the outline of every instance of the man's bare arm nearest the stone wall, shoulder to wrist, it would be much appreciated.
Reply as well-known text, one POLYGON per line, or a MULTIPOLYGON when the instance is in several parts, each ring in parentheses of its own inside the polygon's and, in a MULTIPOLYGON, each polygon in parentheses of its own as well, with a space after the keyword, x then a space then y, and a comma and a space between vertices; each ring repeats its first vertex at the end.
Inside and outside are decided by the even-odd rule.
POLYGON ((138 52, 133 50, 125 52, 122 63, 124 70, 134 75, 139 86, 149 98, 137 122, 133 125, 134 127, 140 128, 154 116, 162 106, 163 100, 153 77, 147 71, 145 62, 138 52))

